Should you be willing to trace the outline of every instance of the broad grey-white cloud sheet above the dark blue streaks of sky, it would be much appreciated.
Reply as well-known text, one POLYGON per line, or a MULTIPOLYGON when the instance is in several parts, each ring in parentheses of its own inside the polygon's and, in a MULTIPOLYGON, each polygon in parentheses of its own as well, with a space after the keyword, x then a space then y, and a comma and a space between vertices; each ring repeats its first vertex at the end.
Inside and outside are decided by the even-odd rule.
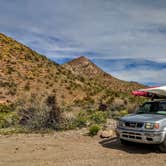
MULTIPOLYGON (((30 38, 28 33, 26 36, 29 32, 70 40, 77 49, 99 52, 105 58, 134 56, 166 61, 166 32, 160 31, 166 28, 166 2, 163 0, 158 3, 137 0, 1 1, 1 27, 8 29, 8 33, 14 28, 24 30, 25 43, 30 38)), ((39 51, 42 45, 46 52, 56 48, 56 43, 33 39, 38 42, 39 51)), ((77 51, 67 45, 62 49, 77 51)))

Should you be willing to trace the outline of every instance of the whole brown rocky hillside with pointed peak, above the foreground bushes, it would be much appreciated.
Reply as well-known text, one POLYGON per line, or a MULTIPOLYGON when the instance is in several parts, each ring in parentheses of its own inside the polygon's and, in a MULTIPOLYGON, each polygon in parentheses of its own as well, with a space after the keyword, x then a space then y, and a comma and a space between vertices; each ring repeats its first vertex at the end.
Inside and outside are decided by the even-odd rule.
POLYGON ((115 99, 128 104, 136 102, 131 90, 142 87, 112 77, 85 57, 60 66, 0 34, 0 103, 14 102, 29 94, 54 94, 63 106, 82 108, 101 102, 111 104, 115 99))

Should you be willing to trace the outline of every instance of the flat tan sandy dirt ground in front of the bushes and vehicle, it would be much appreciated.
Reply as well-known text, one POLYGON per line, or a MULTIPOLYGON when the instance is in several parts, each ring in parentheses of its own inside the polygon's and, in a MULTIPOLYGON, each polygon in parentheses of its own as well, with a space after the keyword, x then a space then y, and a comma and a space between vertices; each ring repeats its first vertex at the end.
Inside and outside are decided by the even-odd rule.
POLYGON ((116 138, 78 131, 0 136, 0 165, 7 166, 165 166, 166 154, 153 146, 122 146, 116 138))

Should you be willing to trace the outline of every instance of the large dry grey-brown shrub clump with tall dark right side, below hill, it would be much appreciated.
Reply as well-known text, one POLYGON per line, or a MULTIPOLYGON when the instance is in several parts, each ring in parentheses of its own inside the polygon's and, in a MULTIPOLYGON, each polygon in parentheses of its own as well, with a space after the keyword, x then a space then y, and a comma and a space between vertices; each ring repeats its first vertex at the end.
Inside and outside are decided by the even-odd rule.
POLYGON ((32 130, 59 129, 61 115, 55 96, 48 96, 45 101, 34 97, 24 104, 19 108, 21 125, 32 130))

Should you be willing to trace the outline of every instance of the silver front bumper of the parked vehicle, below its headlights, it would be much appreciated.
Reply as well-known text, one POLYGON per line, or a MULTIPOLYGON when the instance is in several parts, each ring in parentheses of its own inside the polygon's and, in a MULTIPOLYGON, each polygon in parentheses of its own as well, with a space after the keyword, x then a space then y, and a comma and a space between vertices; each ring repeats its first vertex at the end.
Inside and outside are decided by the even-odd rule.
POLYGON ((164 131, 143 131, 120 127, 117 128, 117 134, 120 139, 145 144, 160 144, 165 138, 164 131))

